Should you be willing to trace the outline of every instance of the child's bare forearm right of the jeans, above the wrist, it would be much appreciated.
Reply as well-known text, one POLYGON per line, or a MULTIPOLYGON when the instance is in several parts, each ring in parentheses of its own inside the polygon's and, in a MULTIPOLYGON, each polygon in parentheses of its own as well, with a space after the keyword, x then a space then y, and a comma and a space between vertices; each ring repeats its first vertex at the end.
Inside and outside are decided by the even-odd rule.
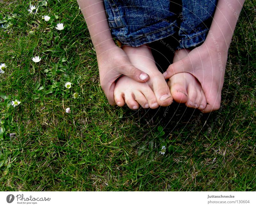
POLYGON ((209 47, 228 51, 238 16, 245 0, 219 0, 210 31, 205 40, 209 47))

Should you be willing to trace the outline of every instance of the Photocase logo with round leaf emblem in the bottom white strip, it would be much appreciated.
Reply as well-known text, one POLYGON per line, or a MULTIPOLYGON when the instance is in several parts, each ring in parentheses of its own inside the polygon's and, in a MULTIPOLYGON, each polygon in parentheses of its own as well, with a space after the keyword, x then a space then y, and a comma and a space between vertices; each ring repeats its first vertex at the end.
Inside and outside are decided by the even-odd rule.
POLYGON ((16 196, 10 194, 6 196, 7 203, 12 203, 14 200, 16 200, 18 204, 36 204, 40 201, 50 201, 51 198, 33 197, 31 195, 29 197, 25 197, 23 194, 17 194, 16 196), (17 200, 15 199, 15 197, 17 200))

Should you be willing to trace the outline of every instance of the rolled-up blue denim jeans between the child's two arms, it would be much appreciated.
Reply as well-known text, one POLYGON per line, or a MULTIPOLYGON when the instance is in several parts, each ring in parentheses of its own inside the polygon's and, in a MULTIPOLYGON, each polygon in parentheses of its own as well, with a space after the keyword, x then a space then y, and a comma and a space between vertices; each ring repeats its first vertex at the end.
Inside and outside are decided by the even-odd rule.
POLYGON ((217 0, 104 0, 112 36, 138 47, 173 35, 177 48, 204 42, 217 0))

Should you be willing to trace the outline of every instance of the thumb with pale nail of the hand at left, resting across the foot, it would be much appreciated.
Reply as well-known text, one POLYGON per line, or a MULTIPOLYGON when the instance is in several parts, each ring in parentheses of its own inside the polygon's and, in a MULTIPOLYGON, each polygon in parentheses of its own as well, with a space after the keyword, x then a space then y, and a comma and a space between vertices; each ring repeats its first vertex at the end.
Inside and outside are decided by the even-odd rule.
POLYGON ((124 65, 120 73, 132 78, 133 80, 136 80, 137 82, 146 82, 149 79, 147 73, 144 73, 140 69, 134 67, 132 64, 124 65))

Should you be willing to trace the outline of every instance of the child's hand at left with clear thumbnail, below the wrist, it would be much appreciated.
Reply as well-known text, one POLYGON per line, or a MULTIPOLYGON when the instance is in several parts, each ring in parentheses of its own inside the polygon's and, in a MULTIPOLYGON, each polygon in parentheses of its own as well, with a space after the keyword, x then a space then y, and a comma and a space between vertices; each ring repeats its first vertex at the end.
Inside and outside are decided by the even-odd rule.
POLYGON ((115 81, 122 75, 126 75, 137 82, 146 82, 148 74, 134 67, 125 52, 114 47, 102 54, 97 54, 100 72, 100 85, 111 105, 116 105, 114 99, 115 81))

